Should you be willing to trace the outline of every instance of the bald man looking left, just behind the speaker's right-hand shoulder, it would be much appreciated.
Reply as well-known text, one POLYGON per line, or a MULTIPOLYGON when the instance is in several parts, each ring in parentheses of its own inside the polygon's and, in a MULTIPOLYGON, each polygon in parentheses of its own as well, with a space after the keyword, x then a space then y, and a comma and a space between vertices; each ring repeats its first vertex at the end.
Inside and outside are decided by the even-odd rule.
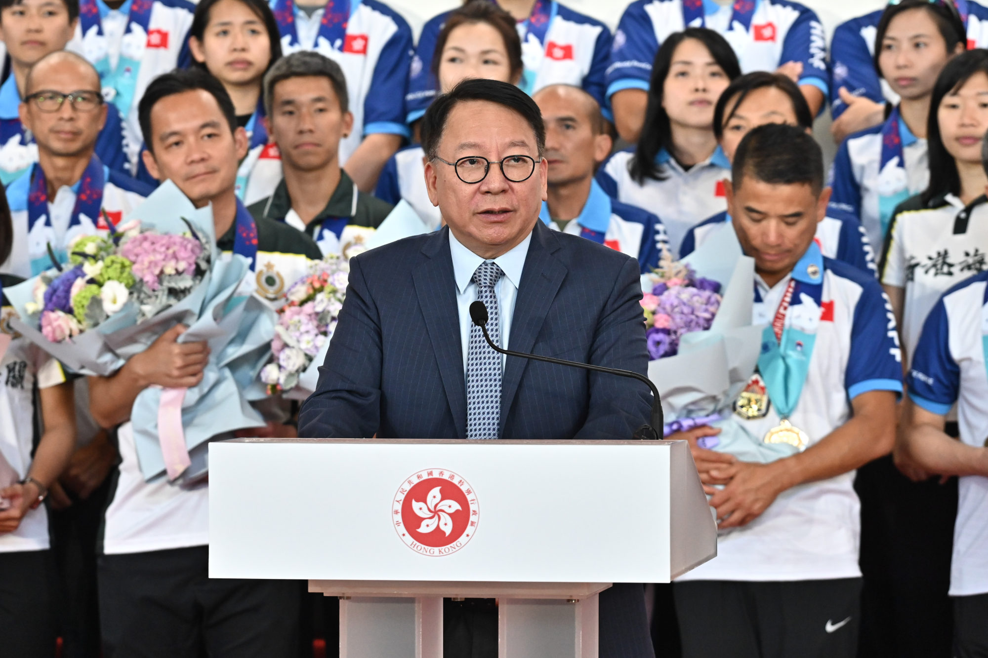
POLYGON ((582 235, 638 260, 641 272, 668 249, 662 220, 611 199, 594 180, 611 152, 601 107, 579 87, 550 85, 533 97, 545 122, 547 201, 539 218, 552 229, 582 235))

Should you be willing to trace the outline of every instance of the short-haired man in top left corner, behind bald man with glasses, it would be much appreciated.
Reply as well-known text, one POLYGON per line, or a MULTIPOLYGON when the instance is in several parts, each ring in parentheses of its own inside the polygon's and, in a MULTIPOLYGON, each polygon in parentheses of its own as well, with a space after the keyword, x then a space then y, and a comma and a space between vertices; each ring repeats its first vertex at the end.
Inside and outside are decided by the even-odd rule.
MULTIPOLYGON (((0 0, 0 39, 7 45, 11 69, 0 85, 0 182, 4 185, 38 161, 38 147, 18 110, 28 71, 45 55, 65 47, 78 20, 78 0, 0 0)), ((124 124, 113 106, 107 107, 96 154, 110 169, 129 173, 124 124)))

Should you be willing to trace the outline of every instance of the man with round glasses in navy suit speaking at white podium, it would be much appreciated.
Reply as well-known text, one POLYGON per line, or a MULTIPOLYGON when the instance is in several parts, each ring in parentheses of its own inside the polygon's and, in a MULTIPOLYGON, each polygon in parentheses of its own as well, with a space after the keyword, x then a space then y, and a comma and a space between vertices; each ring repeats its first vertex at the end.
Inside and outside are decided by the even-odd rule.
MULTIPOLYGON (((645 373, 637 262, 538 221, 548 169, 535 102, 466 80, 422 124, 429 198, 446 227, 350 261, 340 320, 299 436, 628 439, 651 396, 632 379, 503 357, 512 350, 645 373)), ((447 602, 445 655, 496 656, 492 600, 447 602)), ((600 655, 654 656, 641 585, 601 594, 600 655)))

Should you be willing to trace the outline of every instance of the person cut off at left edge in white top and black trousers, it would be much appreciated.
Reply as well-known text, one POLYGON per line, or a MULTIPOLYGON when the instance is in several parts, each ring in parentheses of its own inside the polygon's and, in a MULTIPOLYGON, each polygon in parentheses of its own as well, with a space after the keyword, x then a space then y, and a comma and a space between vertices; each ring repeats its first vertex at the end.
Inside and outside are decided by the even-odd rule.
MULTIPOLYGON (((13 246, 0 199, 0 258, 13 246)), ((5 655, 51 656, 54 573, 42 503, 75 447, 75 406, 58 362, 10 329, 3 288, 19 282, 0 275, 0 627, 5 655)))

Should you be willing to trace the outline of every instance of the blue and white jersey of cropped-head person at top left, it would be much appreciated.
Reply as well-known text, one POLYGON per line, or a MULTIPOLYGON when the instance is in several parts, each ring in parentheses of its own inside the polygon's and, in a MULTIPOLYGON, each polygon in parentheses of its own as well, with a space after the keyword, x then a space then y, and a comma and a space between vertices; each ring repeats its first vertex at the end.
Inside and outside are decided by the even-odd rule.
POLYGON ((81 54, 100 71, 103 96, 124 119, 124 151, 131 173, 143 141, 137 103, 151 80, 191 62, 188 37, 195 11, 186 0, 126 0, 119 10, 103 0, 80 2, 75 37, 65 49, 81 54))

